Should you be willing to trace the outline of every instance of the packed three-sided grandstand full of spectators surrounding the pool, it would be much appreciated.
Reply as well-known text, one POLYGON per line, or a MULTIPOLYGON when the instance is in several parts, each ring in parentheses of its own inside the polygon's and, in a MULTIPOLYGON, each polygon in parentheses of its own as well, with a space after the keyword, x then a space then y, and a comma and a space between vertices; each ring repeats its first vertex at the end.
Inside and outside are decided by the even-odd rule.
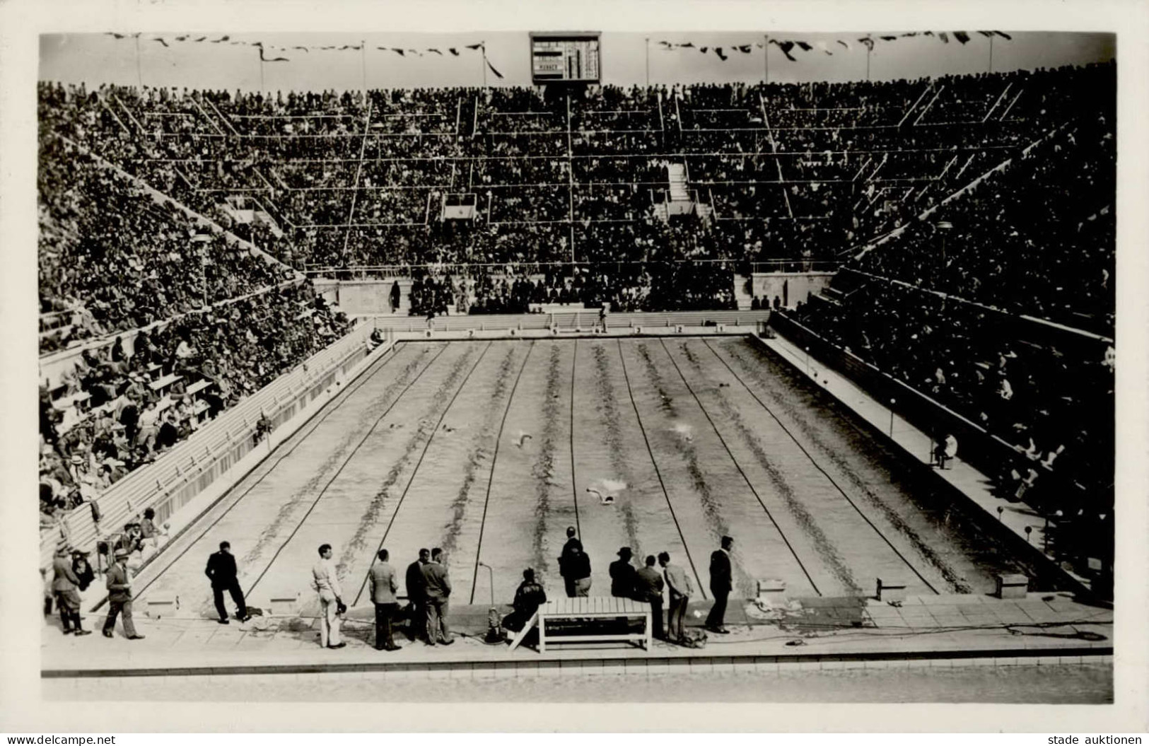
POLYGON ((341 338, 311 282, 350 278, 412 316, 773 307, 998 441, 1067 561, 1111 526, 1113 64, 38 101, 41 363, 75 356, 40 382, 44 530, 341 338))

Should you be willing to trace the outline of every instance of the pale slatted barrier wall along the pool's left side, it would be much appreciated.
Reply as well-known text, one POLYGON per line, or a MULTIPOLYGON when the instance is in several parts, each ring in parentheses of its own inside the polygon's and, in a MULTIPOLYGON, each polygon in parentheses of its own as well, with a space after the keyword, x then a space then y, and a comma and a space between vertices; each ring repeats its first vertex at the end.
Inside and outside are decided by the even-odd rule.
POLYGON ((97 541, 123 526, 145 508, 154 508, 156 523, 167 521, 207 490, 257 446, 256 425, 265 417, 271 430, 291 420, 323 395, 368 354, 370 324, 360 324, 327 348, 283 374, 244 399, 187 440, 160 456, 155 463, 132 471, 97 498, 100 525, 88 505, 68 513, 57 526, 40 532, 40 562, 48 567, 56 541, 63 534, 72 547, 94 551, 97 541))

